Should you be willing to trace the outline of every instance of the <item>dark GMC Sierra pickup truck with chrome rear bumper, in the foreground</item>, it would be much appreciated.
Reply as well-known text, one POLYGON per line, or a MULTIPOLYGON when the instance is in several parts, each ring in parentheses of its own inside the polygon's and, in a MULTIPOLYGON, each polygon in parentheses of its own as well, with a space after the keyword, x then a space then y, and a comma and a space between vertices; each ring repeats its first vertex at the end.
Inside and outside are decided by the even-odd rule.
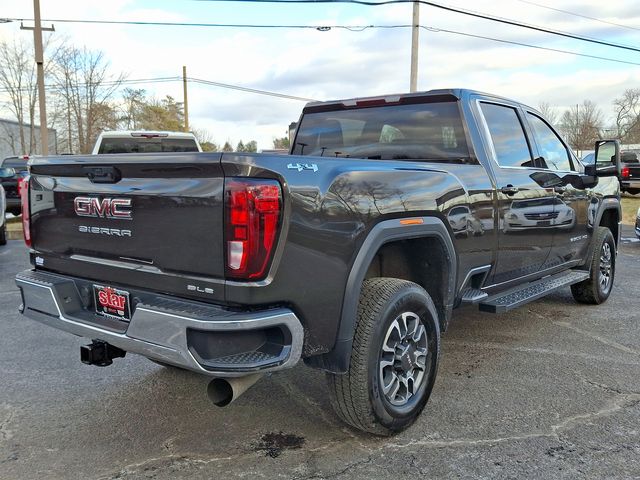
POLYGON ((409 426, 452 311, 613 288, 620 154, 583 165, 536 110, 469 90, 308 104, 290 155, 33 159, 20 311, 211 379, 225 405, 301 359, 337 414, 409 426))

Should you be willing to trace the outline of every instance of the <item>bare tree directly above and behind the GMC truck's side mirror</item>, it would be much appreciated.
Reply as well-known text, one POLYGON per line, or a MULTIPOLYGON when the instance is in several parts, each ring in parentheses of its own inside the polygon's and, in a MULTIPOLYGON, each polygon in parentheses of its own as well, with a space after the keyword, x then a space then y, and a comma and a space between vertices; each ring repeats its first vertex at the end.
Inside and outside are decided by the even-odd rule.
POLYGON ((560 129, 575 150, 591 150, 600 135, 602 112, 591 100, 576 105, 564 112, 560 129))

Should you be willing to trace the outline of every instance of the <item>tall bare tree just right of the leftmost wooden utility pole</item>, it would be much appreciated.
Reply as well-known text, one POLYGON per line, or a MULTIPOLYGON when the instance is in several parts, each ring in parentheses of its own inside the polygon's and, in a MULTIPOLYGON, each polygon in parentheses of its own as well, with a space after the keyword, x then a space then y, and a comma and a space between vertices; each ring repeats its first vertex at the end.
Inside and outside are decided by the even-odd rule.
POLYGON ((124 77, 111 75, 102 52, 76 47, 61 50, 53 77, 67 109, 67 150, 89 153, 101 131, 118 125, 114 94, 124 77))

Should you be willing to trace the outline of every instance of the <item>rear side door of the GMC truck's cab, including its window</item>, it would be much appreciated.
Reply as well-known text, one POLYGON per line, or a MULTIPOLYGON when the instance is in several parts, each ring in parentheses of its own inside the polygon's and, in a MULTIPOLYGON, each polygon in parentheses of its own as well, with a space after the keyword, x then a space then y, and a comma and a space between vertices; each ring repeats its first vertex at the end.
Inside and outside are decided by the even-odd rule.
POLYGON ((555 194, 532 176, 539 169, 518 105, 478 101, 497 187, 498 253, 492 284, 545 268, 553 242, 555 194))

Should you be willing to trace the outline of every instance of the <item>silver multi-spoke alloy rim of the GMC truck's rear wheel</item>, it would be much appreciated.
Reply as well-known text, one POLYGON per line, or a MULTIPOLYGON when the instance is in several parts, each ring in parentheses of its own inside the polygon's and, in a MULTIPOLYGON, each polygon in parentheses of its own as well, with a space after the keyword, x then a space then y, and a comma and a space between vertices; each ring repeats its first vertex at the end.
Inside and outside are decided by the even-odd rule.
POLYGON ((427 369, 427 330, 414 312, 391 322, 382 342, 379 375, 382 393, 391 405, 403 406, 418 392, 427 369))

